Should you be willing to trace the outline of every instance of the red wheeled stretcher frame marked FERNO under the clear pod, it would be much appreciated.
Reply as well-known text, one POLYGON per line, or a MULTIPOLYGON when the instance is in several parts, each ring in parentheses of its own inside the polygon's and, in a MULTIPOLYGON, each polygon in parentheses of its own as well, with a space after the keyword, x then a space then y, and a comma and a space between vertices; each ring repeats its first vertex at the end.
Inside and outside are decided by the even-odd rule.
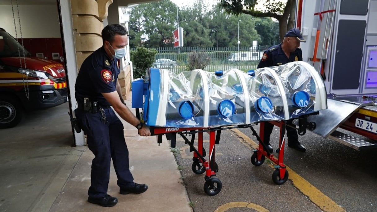
MULTIPOLYGON (((192 171, 195 174, 203 174, 205 172, 204 192, 213 196, 221 191, 222 183, 219 178, 215 177, 218 172, 218 165, 215 161, 216 144, 219 144, 221 130, 234 129, 234 128, 250 128, 253 135, 259 141, 259 146, 254 150, 251 155, 251 163, 255 166, 260 166, 264 163, 265 157, 270 159, 276 164, 275 171, 272 174, 272 180, 275 184, 284 184, 288 180, 288 171, 283 162, 284 160, 284 146, 285 146, 285 128, 286 121, 269 121, 280 128, 279 148, 276 150, 279 153, 277 158, 267 151, 267 145, 263 142, 263 137, 259 137, 255 129, 254 124, 244 124, 238 126, 223 126, 218 128, 164 128, 164 127, 150 127, 151 135, 157 135, 158 144, 162 143, 162 135, 166 135, 167 140, 170 140, 170 147, 174 148, 176 144, 176 134, 180 135, 185 144, 190 146, 190 152, 193 152, 193 164, 192 171), (208 160, 205 159, 206 152, 203 146, 203 133, 207 132, 210 136, 209 139, 209 156, 208 160), (187 138, 187 135, 192 136, 191 140, 187 138), (195 134, 198 134, 198 148, 194 146, 195 134)), ((265 122, 260 122, 260 134, 264 132, 265 122)), ((302 135, 302 133, 300 134, 302 135)))

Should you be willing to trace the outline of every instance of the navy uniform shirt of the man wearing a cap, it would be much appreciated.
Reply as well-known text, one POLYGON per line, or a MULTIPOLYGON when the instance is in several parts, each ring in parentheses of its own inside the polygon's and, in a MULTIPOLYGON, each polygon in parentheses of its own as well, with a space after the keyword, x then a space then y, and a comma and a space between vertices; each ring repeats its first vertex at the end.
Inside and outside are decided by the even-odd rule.
POLYGON ((282 49, 282 44, 280 43, 278 45, 271 46, 264 52, 257 68, 279 66, 293 61, 302 61, 301 49, 299 48, 294 52, 291 52, 291 55, 288 58, 282 49))

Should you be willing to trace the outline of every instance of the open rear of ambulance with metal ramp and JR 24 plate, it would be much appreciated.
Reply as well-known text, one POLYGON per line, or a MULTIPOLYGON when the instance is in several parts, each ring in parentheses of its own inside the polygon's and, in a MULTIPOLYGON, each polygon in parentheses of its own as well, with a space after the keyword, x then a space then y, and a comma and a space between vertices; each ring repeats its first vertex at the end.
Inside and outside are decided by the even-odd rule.
POLYGON ((357 150, 377 147, 377 0, 297 0, 303 60, 324 79, 328 109, 313 132, 357 150), (342 129, 339 129, 342 128, 342 129))

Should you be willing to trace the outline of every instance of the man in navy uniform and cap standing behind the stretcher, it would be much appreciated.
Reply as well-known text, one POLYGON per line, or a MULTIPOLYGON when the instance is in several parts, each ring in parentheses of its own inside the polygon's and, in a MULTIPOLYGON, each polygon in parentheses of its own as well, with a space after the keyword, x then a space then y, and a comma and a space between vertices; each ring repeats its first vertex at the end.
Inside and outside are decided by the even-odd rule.
MULTIPOLYGON (((293 61, 302 61, 300 42, 306 42, 306 40, 302 37, 301 31, 295 28, 290 29, 285 34, 282 43, 271 46, 264 52, 257 68, 279 66, 293 61)), ((293 125, 292 120, 288 120, 287 123, 293 125)), ((270 145, 270 135, 273 128, 273 124, 265 122, 263 141, 267 145, 268 151, 270 152, 273 151, 273 148, 270 145)), ((306 149, 300 144, 296 129, 290 127, 287 127, 286 129, 288 146, 300 152, 305 152, 306 149)))

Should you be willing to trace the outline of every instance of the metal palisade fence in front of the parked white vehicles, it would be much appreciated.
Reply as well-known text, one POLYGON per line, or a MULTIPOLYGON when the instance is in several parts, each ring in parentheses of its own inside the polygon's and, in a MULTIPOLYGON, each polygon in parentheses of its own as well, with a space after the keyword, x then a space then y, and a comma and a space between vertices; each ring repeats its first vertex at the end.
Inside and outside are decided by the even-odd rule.
MULTIPOLYGON (((175 73, 190 71, 188 57, 194 52, 204 54, 209 64, 204 71, 214 72, 216 70, 227 70, 237 68, 242 71, 256 69, 263 52, 269 46, 257 46, 251 48, 200 48, 200 47, 178 47, 178 48, 155 48, 155 68, 166 68, 175 73)), ((135 50, 135 49, 131 49, 135 50)))

